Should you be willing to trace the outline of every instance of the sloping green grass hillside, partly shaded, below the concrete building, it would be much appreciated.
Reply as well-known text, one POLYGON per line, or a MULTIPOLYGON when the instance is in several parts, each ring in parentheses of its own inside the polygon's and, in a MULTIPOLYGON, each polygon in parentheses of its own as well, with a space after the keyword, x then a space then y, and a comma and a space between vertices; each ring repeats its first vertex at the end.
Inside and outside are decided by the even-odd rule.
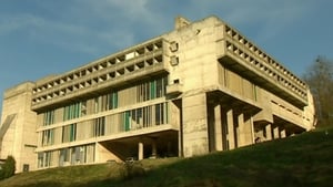
POLYGON ((124 177, 121 164, 74 166, 16 175, 1 187, 332 187, 333 128, 192 158, 143 160, 124 177))

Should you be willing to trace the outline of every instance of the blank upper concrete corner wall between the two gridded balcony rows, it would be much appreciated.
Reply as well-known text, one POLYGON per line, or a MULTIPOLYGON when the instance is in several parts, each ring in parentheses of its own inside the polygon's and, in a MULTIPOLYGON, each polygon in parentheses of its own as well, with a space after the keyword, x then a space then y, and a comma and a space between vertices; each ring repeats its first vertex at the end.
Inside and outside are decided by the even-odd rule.
POLYGON ((218 20, 208 18, 164 34, 170 42, 178 43, 178 50, 169 52, 179 58, 176 65, 169 64, 169 83, 178 80, 182 92, 204 90, 218 84, 215 41, 218 20))

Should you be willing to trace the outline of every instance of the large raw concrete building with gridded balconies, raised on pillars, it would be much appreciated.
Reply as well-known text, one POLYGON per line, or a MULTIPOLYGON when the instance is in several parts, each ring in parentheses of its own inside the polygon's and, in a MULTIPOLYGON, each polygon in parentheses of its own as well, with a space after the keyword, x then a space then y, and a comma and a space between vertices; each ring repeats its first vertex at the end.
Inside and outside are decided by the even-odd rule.
POLYGON ((6 91, 0 158, 18 172, 208 154, 314 127, 309 86, 222 20, 6 91))

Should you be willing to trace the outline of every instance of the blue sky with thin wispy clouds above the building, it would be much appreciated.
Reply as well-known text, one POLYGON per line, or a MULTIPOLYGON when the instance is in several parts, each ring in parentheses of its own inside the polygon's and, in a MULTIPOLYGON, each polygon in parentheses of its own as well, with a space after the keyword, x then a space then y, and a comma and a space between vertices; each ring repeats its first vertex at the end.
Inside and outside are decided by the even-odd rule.
MULTIPOLYGON (((302 76, 333 60, 332 0, 0 0, 0 96, 216 15, 302 76)), ((0 111, 2 100, 0 100, 0 111)))

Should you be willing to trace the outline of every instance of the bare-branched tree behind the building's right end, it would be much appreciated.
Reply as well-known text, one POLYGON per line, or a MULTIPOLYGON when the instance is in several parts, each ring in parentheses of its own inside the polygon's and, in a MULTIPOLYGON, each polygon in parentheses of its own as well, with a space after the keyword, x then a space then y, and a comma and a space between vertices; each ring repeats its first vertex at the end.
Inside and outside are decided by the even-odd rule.
POLYGON ((317 56, 303 77, 314 95, 319 125, 333 125, 333 61, 317 56))

